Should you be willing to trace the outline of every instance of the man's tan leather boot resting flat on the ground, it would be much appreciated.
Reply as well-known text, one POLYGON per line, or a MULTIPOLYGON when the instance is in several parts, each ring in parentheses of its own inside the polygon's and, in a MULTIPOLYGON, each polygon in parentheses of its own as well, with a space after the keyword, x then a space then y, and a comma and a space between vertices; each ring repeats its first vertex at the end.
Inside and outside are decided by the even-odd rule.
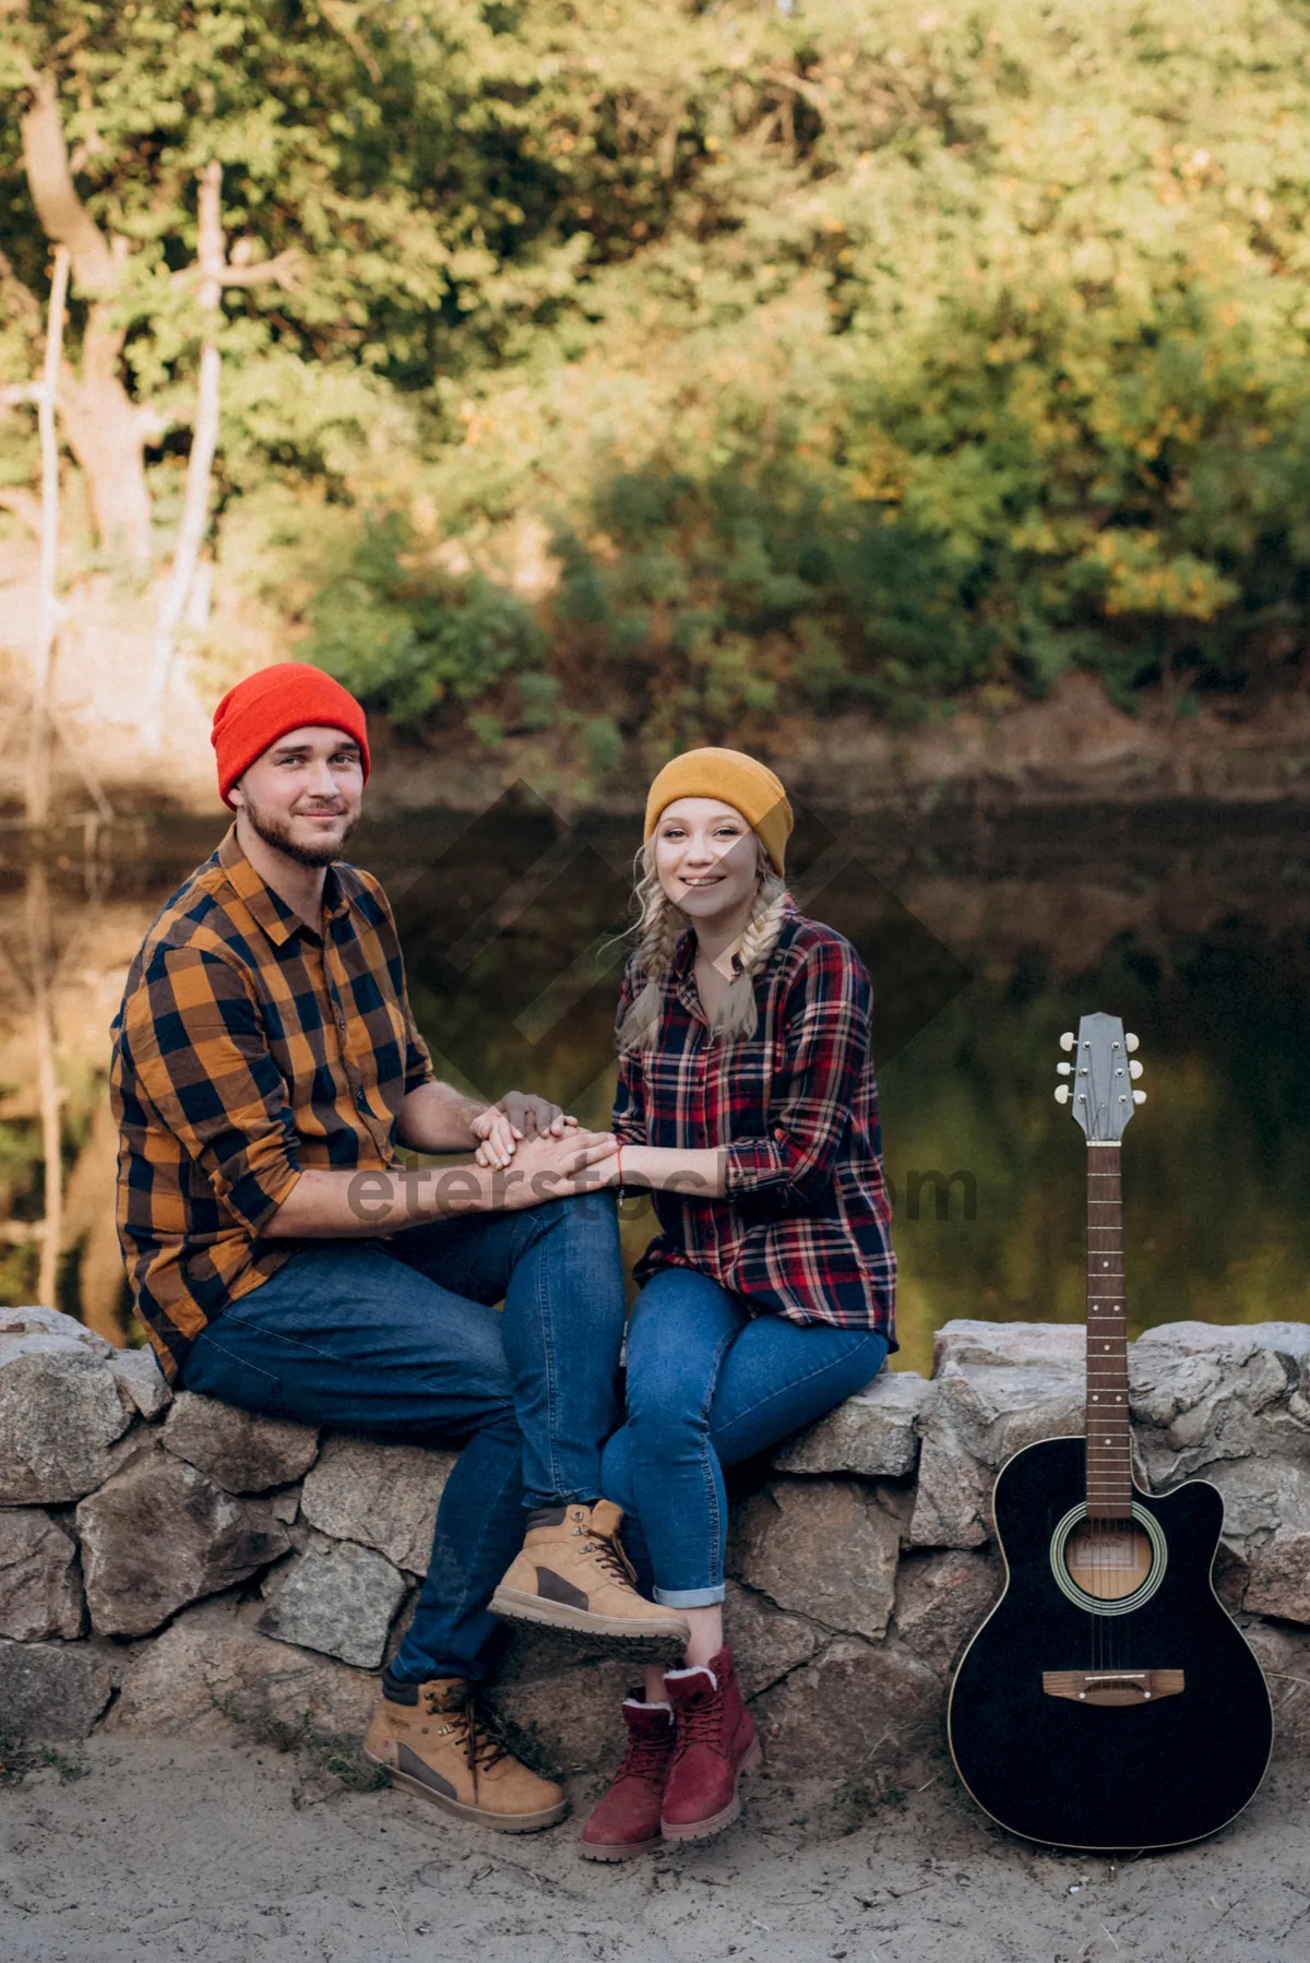
POLYGON ((363 1757, 385 1767, 393 1786, 497 1833, 536 1833, 568 1812, 564 1788, 511 1757, 458 1676, 426 1684, 385 1676, 363 1757))

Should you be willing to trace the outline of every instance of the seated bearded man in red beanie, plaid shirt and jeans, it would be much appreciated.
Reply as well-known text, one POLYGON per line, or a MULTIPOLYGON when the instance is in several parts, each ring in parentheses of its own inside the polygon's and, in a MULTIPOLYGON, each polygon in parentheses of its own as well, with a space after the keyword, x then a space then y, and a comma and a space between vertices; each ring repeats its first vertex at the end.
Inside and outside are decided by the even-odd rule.
POLYGON ((267 667, 224 695, 212 740, 236 822, 149 928, 114 1023, 136 1303, 189 1390, 464 1445, 365 1751, 448 1812, 552 1826, 560 1786, 473 1696, 520 1547, 540 1619, 638 1653, 685 1637, 630 1586, 601 1502, 625 1305, 613 1201, 585 1188, 613 1139, 436 1082, 387 899, 340 864, 369 773, 340 683, 267 667), (414 1174, 397 1144, 473 1160, 414 1174))

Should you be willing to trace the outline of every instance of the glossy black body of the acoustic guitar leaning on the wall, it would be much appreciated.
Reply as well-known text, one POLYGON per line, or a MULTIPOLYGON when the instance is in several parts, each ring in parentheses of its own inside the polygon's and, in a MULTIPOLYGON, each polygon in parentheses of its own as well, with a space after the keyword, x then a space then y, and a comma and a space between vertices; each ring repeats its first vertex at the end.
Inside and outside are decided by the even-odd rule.
POLYGON ((1008 1582, 955 1674, 951 1753, 978 1806, 1025 1839, 1086 1849, 1202 1839, 1253 1796, 1273 1741, 1261 1669, 1210 1586, 1224 1502, 1200 1480, 1163 1500, 1133 1488, 1161 1529, 1157 1586, 1139 1590, 1139 1606, 1098 1614, 1070 1600, 1051 1559, 1084 1500, 1082 1439, 1031 1445, 1004 1466, 996 1531, 1008 1582), (1088 1704, 1049 1694, 1047 1671, 1180 1671, 1184 1688, 1088 1704))

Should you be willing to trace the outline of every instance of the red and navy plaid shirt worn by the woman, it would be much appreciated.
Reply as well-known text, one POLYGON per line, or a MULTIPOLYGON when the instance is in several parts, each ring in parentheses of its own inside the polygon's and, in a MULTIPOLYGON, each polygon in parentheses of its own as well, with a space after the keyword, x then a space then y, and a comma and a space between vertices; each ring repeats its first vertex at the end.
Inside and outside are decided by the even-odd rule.
MULTIPOLYGON (((758 1029, 711 1042, 687 930, 654 1044, 619 1058, 613 1129, 670 1150, 727 1146, 727 1197, 652 1194, 662 1233, 636 1264, 695 1268, 793 1323, 878 1329, 896 1349, 892 1205, 868 1050, 872 989, 848 940, 788 905, 754 982, 758 1029)), ((646 985, 640 954, 619 1021, 646 985)))

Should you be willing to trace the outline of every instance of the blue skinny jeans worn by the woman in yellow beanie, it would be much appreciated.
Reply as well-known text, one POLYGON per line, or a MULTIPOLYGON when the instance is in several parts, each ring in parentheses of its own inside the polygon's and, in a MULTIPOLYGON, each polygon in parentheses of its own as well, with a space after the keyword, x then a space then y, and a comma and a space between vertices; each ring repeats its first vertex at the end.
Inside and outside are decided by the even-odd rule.
POLYGON ((662 1268, 632 1309, 628 1421, 601 1460, 642 1592, 668 1608, 723 1602, 723 1466, 813 1425, 886 1354, 872 1329, 752 1317, 707 1276, 662 1268))

